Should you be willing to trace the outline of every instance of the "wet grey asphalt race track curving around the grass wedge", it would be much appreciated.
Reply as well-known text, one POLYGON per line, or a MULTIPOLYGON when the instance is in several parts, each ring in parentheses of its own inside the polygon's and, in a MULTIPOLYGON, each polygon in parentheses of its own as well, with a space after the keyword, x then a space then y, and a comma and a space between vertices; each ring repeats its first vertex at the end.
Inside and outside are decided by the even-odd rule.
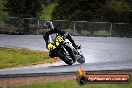
MULTIPOLYGON (((85 70, 132 69, 132 38, 73 36, 73 39, 82 46, 81 51, 86 58, 86 63, 82 65, 85 70)), ((41 35, 0 35, 0 46, 46 50, 45 42, 41 35)), ((59 61, 0 69, 0 75, 74 72, 78 70, 79 66, 78 63, 66 66, 63 61, 59 61)))

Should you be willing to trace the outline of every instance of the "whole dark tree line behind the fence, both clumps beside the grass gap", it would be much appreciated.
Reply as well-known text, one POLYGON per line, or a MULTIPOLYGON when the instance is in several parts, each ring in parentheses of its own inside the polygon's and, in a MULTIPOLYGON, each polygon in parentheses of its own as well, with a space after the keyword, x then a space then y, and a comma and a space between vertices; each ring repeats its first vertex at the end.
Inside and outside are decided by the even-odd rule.
POLYGON ((53 20, 132 22, 132 0, 4 0, 4 11, 15 17, 40 17, 51 3, 58 3, 53 20))

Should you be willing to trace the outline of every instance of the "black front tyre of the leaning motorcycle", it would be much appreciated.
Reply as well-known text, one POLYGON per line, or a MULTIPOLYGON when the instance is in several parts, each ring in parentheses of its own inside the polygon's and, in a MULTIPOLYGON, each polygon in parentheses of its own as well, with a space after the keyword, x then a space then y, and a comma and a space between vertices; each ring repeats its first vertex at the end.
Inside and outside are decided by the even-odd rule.
POLYGON ((66 45, 62 46, 58 50, 58 54, 61 60, 63 60, 66 64, 72 65, 74 63, 73 61, 73 52, 72 49, 66 45))

